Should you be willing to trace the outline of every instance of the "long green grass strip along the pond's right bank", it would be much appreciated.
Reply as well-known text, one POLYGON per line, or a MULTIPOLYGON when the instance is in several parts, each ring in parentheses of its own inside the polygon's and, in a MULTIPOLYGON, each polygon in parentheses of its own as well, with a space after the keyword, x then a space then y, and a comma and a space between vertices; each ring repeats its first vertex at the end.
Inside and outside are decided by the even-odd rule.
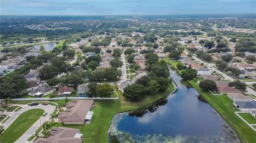
POLYGON ((233 102, 227 96, 212 95, 209 91, 199 88, 198 84, 190 81, 193 87, 206 99, 206 101, 223 117, 224 120, 237 133, 241 142, 255 142, 256 132, 244 123, 236 114, 232 105, 233 102))

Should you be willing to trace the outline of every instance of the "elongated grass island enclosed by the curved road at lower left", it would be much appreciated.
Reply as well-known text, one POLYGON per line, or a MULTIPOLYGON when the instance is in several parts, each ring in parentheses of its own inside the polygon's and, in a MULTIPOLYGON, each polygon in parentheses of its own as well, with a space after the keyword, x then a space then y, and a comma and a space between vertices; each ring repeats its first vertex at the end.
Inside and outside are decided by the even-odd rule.
POLYGON ((22 113, 3 133, 4 142, 14 142, 44 113, 42 109, 33 109, 22 113))

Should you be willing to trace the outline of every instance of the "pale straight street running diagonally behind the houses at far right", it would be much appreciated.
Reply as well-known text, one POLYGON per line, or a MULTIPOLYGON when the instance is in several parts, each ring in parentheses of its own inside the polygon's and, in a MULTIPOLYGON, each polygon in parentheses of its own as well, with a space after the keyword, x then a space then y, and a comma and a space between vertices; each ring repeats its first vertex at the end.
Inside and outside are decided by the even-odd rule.
MULTIPOLYGON (((188 54, 187 51, 185 51, 186 54, 188 54)), ((218 73, 220 73, 225 79, 228 79, 229 81, 234 81, 236 79, 234 79, 233 77, 230 77, 229 75, 227 75, 226 73, 223 73, 222 71, 214 68, 215 64, 212 64, 212 63, 206 63, 204 61, 202 61, 200 58, 197 58, 196 56, 193 56, 193 58, 196 60, 196 61, 199 61, 200 63, 204 63, 204 65, 207 66, 207 68, 211 69, 211 71, 217 71, 218 73)), ((256 82, 245 82, 247 85, 249 84, 253 84, 253 83, 256 83, 256 82)), ((254 91, 253 89, 247 87, 247 94, 253 94, 253 95, 256 95, 256 91, 254 91)))

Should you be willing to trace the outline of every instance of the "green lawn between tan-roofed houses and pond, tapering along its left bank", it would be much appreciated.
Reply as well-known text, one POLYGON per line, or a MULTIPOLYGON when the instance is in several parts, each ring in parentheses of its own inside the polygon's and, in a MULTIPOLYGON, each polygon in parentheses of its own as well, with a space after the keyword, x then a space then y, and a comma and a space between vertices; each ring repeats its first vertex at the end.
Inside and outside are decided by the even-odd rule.
POLYGON ((169 88, 164 92, 154 96, 147 96, 140 102, 130 102, 129 100, 126 100, 122 92, 118 90, 119 100, 94 100, 96 107, 92 109, 94 111, 94 116, 90 125, 62 125, 61 123, 54 123, 54 127, 63 126, 80 129, 84 137, 83 142, 109 142, 107 131, 111 120, 116 113, 135 110, 150 105, 156 100, 170 94, 173 90, 174 86, 170 83, 169 88))

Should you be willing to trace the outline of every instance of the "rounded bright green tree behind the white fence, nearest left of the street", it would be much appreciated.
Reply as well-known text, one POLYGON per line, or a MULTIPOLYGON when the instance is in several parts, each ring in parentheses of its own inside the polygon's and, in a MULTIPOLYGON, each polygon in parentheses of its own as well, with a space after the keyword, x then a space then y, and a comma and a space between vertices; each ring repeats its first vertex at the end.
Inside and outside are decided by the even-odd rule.
POLYGON ((97 86, 97 95, 99 97, 110 97, 114 89, 109 85, 109 83, 103 83, 97 86))

